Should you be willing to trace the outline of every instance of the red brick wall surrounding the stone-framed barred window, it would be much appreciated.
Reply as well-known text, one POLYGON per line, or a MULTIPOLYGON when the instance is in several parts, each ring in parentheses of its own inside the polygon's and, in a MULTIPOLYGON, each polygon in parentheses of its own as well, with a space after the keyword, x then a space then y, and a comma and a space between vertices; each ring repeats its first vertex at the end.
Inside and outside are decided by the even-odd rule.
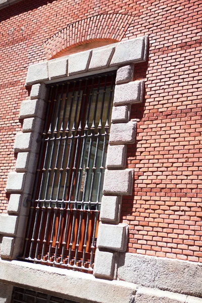
POLYGON ((122 219, 130 225, 128 250, 202 262, 201 4, 24 0, 0 10, 1 212, 8 203, 7 175, 15 167, 13 144, 21 129, 20 104, 28 96, 28 65, 51 58, 53 39, 55 55, 80 40, 149 35, 147 62, 135 67, 135 78, 145 79, 146 89, 143 105, 133 106, 131 113, 139 122, 137 142, 128 147, 134 196, 124 197, 122 208, 122 219), (87 31, 81 29, 82 19, 87 31), (105 31, 107 26, 112 31, 105 31), (70 28, 66 45, 65 28, 70 28))

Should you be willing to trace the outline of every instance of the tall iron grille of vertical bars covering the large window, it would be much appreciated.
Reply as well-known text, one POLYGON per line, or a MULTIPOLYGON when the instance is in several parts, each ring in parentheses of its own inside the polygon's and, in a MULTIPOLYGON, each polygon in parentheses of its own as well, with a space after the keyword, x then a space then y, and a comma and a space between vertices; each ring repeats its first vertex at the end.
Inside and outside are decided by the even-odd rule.
POLYGON ((114 82, 49 87, 23 259, 92 272, 114 82))

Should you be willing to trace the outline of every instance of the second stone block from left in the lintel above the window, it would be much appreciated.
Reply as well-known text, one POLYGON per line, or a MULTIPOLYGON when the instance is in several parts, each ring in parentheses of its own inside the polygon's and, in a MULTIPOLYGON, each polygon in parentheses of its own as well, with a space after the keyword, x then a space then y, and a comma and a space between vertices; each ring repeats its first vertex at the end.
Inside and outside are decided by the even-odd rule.
POLYGON ((67 76, 68 59, 48 61, 49 79, 67 76))

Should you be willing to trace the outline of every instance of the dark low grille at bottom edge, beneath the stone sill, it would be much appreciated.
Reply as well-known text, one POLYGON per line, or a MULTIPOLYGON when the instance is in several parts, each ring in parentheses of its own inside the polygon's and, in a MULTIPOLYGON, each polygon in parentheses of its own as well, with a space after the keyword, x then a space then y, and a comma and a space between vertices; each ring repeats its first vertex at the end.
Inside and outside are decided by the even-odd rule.
POLYGON ((78 303, 25 288, 14 287, 11 303, 78 303))

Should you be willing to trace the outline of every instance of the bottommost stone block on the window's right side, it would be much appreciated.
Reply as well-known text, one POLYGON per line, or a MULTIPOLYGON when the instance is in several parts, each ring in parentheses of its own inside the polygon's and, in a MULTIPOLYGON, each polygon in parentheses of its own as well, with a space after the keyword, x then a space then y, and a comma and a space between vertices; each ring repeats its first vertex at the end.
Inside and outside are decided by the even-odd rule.
POLYGON ((113 279, 116 259, 116 252, 96 249, 93 275, 96 278, 113 279))

